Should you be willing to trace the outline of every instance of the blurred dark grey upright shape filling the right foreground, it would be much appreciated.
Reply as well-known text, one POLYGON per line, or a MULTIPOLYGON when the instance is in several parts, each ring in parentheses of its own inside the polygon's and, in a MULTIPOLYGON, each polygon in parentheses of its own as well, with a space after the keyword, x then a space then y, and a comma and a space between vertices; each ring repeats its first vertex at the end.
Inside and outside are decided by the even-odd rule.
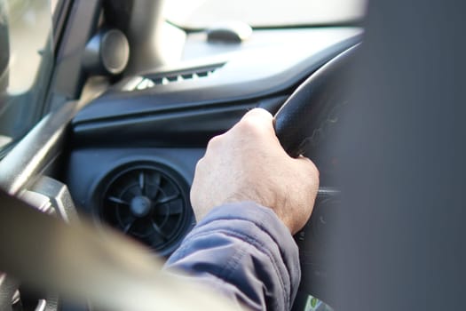
POLYGON ((369 3, 335 138, 336 310, 464 308, 466 4, 369 3))

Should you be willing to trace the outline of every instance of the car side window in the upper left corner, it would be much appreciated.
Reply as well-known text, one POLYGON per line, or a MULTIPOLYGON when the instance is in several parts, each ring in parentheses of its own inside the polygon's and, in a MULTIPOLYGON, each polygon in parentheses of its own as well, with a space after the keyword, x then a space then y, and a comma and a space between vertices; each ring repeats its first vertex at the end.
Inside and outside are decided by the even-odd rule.
POLYGON ((0 158, 42 116, 52 68, 49 0, 0 0, 0 158))

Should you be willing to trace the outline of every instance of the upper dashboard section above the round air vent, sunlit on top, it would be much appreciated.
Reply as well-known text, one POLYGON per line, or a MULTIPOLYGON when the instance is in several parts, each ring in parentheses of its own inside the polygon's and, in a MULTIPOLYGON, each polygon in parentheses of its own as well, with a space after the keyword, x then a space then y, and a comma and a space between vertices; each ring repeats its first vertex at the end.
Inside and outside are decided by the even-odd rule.
MULTIPOLYGON (((203 124, 210 128, 204 131, 207 136, 215 134, 212 130, 223 132, 251 107, 271 105, 269 108, 275 112, 307 76, 338 53, 358 44, 360 36, 359 28, 260 30, 249 44, 234 46, 230 48, 232 51, 224 51, 228 45, 217 51, 216 44, 203 43, 204 50, 205 45, 212 50, 205 52, 208 56, 187 58, 176 66, 143 72, 115 84, 75 116, 74 138, 91 143, 94 138, 119 131, 128 135, 126 139, 146 138, 157 145, 154 134, 161 132, 166 135, 172 131, 180 140, 186 137, 195 140, 192 136, 197 131, 193 127, 182 131, 180 124, 196 122, 195 127, 203 124), (200 70, 207 74, 199 76, 200 70), (218 116, 202 117, 209 113, 224 115, 224 120, 217 121, 218 116), (186 116, 191 120, 186 121, 186 116), (227 120, 225 116, 231 117, 227 120), (138 127, 145 128, 137 131, 138 127)), ((188 39, 186 51, 191 45, 200 44, 190 43, 188 39)), ((200 142, 203 146, 205 140, 200 142)))

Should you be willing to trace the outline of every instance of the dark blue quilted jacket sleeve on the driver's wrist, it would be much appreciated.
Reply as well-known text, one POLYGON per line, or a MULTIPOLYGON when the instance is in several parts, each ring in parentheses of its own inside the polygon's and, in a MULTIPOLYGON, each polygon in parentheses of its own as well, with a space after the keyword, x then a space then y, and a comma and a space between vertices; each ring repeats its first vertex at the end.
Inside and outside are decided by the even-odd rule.
POLYGON ((166 263, 252 310, 289 310, 301 271, 289 230, 269 208, 229 203, 210 211, 166 263))

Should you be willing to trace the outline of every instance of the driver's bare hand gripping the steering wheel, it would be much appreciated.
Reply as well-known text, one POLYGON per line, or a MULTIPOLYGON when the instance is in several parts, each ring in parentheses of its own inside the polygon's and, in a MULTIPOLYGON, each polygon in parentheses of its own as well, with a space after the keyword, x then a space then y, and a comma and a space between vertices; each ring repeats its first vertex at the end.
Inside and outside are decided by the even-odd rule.
POLYGON ((272 115, 253 109, 225 134, 209 141, 191 188, 197 221, 224 203, 253 201, 271 208, 292 234, 311 216, 319 171, 305 157, 281 148, 272 115))

